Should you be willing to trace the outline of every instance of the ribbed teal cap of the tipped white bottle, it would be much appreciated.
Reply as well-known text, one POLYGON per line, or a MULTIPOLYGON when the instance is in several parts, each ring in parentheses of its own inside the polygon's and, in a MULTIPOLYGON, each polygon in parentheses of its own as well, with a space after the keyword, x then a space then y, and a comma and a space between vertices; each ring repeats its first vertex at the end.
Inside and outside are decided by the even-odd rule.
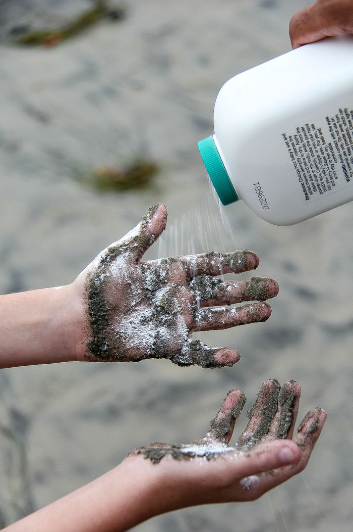
POLYGON ((199 152, 208 171, 210 179, 223 205, 229 205, 239 200, 234 190, 227 170, 222 163, 213 137, 207 137, 197 144, 199 152))

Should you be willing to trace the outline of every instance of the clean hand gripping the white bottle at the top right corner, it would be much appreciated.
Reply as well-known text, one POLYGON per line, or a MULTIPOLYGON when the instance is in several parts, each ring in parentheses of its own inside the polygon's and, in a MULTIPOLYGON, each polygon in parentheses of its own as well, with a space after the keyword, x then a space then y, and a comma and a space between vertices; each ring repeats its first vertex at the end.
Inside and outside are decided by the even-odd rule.
POLYGON ((352 0, 316 0, 295 13, 289 24, 293 48, 342 35, 353 35, 352 0))

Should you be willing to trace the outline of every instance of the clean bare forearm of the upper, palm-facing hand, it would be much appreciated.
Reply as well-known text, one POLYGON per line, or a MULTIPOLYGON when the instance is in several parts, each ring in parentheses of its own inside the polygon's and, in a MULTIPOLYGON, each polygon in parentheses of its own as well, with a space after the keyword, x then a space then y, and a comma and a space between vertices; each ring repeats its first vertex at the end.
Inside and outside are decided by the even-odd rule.
POLYGON ((71 285, 0 296, 0 367, 77 360, 80 306, 71 285))

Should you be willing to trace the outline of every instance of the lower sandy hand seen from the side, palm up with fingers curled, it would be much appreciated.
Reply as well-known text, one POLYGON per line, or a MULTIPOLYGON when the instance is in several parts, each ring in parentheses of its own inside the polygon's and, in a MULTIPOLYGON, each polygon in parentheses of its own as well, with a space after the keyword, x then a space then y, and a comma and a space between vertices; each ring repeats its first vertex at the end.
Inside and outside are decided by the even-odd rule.
POLYGON ((180 478, 186 485, 190 479, 195 484, 193 497, 199 497, 190 505, 254 500, 302 471, 320 436, 326 413, 315 408, 293 438, 299 397, 295 381, 281 388, 277 380, 266 380, 247 413, 245 431, 231 447, 234 425, 246 401, 244 392, 231 390, 202 439, 187 444, 154 443, 129 456, 142 455, 160 463, 174 483, 180 478))

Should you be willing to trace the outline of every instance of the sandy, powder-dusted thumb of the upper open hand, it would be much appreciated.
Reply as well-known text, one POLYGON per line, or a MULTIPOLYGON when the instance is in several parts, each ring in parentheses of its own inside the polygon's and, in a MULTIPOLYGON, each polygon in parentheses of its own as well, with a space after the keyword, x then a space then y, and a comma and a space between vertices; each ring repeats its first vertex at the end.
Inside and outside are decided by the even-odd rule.
POLYGON ((148 250, 156 242, 167 223, 167 209, 161 203, 152 205, 135 230, 126 235, 126 242, 133 259, 139 262, 148 250))

